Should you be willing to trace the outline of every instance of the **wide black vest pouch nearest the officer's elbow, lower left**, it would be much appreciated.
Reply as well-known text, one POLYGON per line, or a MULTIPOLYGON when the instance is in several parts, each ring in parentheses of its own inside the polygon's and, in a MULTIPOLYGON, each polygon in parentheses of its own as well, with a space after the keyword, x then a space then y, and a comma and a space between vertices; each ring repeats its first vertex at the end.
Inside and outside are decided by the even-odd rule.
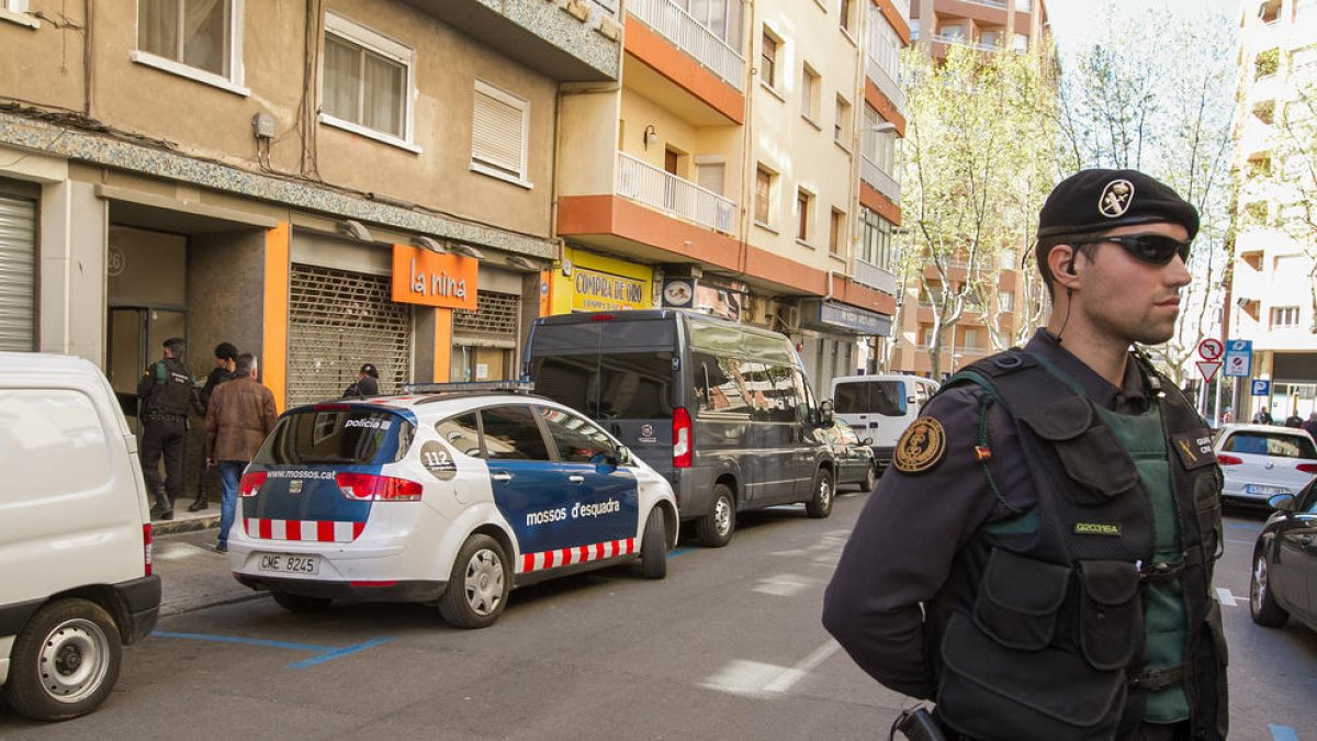
POLYGON ((1046 647, 1056 632, 1069 574, 1067 566, 993 548, 975 599, 975 624, 1002 646, 1046 647))

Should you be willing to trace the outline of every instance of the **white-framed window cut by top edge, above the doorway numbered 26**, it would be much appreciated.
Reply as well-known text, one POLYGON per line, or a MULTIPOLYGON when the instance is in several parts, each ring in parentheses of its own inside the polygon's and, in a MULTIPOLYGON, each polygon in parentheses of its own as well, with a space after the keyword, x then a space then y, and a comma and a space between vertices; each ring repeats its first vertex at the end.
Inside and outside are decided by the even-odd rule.
POLYGON ((241 18, 242 0, 138 0, 132 59, 232 90, 242 83, 241 18))

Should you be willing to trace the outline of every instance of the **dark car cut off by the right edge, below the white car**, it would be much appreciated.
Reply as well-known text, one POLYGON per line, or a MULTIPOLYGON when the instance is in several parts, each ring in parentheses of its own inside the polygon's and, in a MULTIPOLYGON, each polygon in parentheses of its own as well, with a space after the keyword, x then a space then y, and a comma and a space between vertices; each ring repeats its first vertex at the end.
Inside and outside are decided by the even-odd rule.
POLYGON ((1291 617, 1317 630, 1317 481, 1299 494, 1271 497, 1252 551, 1249 612, 1252 621, 1283 628, 1291 617))

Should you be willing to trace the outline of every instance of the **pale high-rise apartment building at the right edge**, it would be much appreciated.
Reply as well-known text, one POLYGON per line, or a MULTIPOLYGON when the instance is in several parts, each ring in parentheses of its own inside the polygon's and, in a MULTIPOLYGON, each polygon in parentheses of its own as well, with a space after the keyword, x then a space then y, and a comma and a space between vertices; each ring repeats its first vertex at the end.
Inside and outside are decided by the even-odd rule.
MULTIPOLYGON (((1252 341, 1251 373, 1266 396, 1241 384, 1235 409, 1246 419, 1268 409, 1277 422, 1317 410, 1313 260, 1317 235, 1296 228, 1304 194, 1287 177, 1312 166, 1313 115, 1299 91, 1317 94, 1317 1, 1245 3, 1239 13, 1239 95, 1235 109, 1237 232, 1226 336, 1252 341), (1287 131, 1288 129, 1288 131, 1287 131), (1291 133, 1306 133, 1309 161, 1287 160, 1291 133), (1276 177, 1280 175, 1280 177, 1276 177)), ((1306 193, 1314 193, 1309 175, 1306 193)))

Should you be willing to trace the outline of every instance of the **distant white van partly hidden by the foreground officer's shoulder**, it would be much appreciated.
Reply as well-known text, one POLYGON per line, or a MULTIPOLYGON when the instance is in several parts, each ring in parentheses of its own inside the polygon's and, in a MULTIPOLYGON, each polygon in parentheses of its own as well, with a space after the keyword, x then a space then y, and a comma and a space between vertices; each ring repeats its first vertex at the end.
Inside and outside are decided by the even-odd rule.
POLYGON ((919 376, 839 376, 830 396, 832 414, 860 438, 873 438, 873 456, 886 468, 901 432, 936 392, 936 381, 919 376))

